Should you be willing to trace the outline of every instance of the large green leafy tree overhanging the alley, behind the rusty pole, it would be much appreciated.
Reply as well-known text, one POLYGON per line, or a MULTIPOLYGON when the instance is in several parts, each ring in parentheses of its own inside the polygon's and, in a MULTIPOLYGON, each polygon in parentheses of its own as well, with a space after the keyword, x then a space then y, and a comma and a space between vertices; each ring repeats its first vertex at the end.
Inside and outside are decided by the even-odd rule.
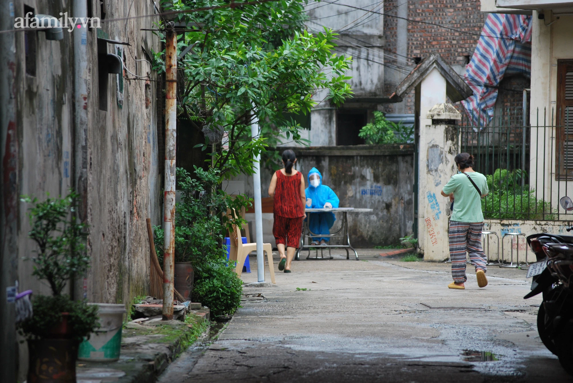
MULTIPOLYGON (((222 9, 176 14, 193 31, 178 36, 178 50, 193 48, 178 62, 184 73, 178 92, 178 118, 202 130, 216 149, 213 167, 221 177, 252 174, 253 155, 284 137, 301 142, 301 126, 286 113, 306 114, 327 90, 339 105, 352 91, 345 75, 351 59, 332 52, 335 33, 304 30, 307 0, 278 0, 229 7, 227 0, 164 0, 165 10, 222 9), (251 139, 250 125, 261 134, 251 139), (220 145, 228 132, 229 149, 220 145)), ((240 3, 236 3, 237 5, 240 3)), ((155 69, 164 70, 164 53, 155 69)), ((321 100, 319 100, 321 101, 321 100)), ((207 149, 205 144, 199 144, 207 149)))

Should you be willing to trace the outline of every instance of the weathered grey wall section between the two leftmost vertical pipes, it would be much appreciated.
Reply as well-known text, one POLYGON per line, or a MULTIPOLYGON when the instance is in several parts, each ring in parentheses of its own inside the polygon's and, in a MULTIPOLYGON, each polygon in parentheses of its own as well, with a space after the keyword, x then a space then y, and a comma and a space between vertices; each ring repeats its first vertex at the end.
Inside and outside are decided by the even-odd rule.
MULTIPOLYGON (((71 4, 41 1, 26 2, 36 13, 58 15, 71 10, 71 4)), ((15 17, 23 15, 23 3, 14 3, 15 17)), ((38 199, 46 193, 65 195, 73 180, 73 41, 64 31, 61 41, 48 41, 44 32, 36 33, 36 75, 26 74, 25 35, 16 34, 17 121, 19 143, 19 194, 38 199), (49 65, 48 65, 49 63, 49 65)), ((23 290, 49 294, 48 284, 32 277, 33 264, 22 257, 34 255, 35 242, 28 238, 29 205, 19 203, 18 280, 23 290)))

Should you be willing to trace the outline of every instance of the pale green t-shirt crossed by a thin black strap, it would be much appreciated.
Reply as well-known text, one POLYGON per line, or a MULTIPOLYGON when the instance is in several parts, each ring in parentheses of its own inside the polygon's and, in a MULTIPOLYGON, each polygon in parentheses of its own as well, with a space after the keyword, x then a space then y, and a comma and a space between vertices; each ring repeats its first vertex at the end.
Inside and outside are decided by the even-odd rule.
MULTIPOLYGON (((485 175, 477 171, 466 173, 476 182, 481 195, 489 193, 488 182, 485 175)), ((481 212, 481 196, 468 177, 463 174, 454 174, 444 186, 444 193, 454 193, 454 211, 450 220, 458 222, 483 222, 484 214, 481 212)))

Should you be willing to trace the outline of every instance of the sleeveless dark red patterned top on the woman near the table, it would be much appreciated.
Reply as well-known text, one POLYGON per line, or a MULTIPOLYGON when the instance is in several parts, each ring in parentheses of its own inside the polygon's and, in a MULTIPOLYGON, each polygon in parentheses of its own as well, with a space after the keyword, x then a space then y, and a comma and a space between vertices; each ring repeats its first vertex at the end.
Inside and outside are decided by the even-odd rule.
POLYGON ((274 191, 273 213, 285 218, 304 217, 303 201, 300 198, 300 182, 303 173, 284 175, 277 170, 277 187, 274 191))

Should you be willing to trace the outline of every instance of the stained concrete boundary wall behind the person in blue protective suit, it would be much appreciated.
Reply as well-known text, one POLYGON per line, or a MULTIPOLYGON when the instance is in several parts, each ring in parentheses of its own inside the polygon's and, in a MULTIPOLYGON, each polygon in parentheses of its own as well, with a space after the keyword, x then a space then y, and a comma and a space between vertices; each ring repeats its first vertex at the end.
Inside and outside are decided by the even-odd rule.
MULTIPOLYGON (((285 148, 280 148, 284 150, 285 148)), ((351 244, 356 247, 397 244, 412 234, 414 212, 414 146, 358 145, 292 147, 295 168, 307 175, 316 167, 324 185, 340 198, 341 207, 373 209, 372 213, 348 213, 351 244)), ((262 170, 262 197, 273 173, 262 170)), ((241 176, 245 192, 253 197, 253 177, 241 176)), ((335 228, 336 226, 335 222, 335 228)))

